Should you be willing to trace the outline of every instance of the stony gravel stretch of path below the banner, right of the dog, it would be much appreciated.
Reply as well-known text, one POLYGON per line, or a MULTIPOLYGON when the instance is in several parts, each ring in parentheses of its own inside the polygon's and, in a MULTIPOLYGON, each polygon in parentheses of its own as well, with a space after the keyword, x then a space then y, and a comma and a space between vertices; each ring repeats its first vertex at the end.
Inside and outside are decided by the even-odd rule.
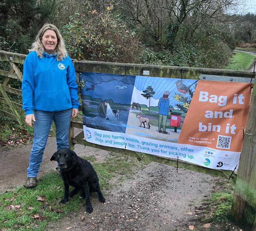
POLYGON ((217 178, 151 163, 121 188, 105 192, 106 203, 91 196, 94 211, 70 214, 47 230, 188 230, 195 224, 195 206, 207 196, 217 178), (81 218, 85 216, 82 222, 81 218))

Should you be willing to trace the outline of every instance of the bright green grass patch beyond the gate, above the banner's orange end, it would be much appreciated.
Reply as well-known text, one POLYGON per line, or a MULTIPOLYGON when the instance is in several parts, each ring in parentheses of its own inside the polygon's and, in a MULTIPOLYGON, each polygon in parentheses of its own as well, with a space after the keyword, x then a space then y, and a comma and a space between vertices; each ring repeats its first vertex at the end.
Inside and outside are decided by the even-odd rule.
POLYGON ((249 69, 254 59, 255 55, 238 51, 231 57, 229 65, 224 69, 246 71, 249 69))

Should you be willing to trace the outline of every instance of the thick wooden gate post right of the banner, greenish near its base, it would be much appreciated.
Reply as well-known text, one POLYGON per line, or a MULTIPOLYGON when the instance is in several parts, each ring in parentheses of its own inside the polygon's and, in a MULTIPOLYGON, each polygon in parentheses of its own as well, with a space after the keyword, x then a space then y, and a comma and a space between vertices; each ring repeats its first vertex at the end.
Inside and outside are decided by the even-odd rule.
MULTIPOLYGON (((256 83, 256 82, 255 82, 256 83)), ((256 86, 253 87, 231 214, 256 230, 256 86)))

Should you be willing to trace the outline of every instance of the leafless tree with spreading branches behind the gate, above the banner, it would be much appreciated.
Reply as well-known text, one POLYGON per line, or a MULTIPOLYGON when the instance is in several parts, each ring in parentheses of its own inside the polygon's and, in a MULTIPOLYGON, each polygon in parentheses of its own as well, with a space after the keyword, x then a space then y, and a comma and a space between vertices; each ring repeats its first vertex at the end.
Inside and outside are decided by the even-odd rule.
MULTIPOLYGON (((154 41, 171 47, 180 28, 193 36, 201 28, 208 35, 230 27, 245 0, 120 0, 123 15, 154 41), (165 36, 167 35, 167 36, 165 36)), ((147 39, 147 38, 145 38, 147 39)))

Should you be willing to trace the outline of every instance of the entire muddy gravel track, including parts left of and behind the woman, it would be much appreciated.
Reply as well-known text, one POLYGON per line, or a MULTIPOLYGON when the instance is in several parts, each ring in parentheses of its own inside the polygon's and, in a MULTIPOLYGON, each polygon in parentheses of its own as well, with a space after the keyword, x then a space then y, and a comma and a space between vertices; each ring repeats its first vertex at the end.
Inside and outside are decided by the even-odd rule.
MULTIPOLYGON (((25 183, 31 146, 1 153, 0 191, 25 183)), ((55 150, 55 138, 49 137, 39 176, 56 167, 55 162, 49 161, 55 150)), ((75 145, 75 152, 79 156, 93 154, 98 161, 108 156, 107 151, 82 145, 75 145)), ((93 213, 85 214, 83 207, 57 223, 48 224, 47 230, 188 230, 197 219, 195 207, 211 195, 219 180, 180 168, 177 173, 174 167, 151 163, 136 172, 133 180, 124 181, 122 187, 103 192, 105 204, 92 195, 93 213)))

